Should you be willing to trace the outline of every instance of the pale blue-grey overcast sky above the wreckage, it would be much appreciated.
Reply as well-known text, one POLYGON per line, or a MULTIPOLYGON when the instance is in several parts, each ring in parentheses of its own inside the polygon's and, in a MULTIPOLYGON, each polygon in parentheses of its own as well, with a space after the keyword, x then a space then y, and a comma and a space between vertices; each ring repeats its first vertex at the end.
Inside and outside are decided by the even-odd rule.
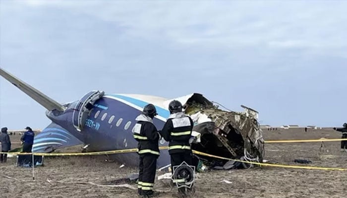
MULTIPOLYGON (((347 1, 0 1, 0 67, 58 102, 201 93, 261 124, 347 122, 347 1)), ((0 126, 45 108, 0 77, 0 126)))

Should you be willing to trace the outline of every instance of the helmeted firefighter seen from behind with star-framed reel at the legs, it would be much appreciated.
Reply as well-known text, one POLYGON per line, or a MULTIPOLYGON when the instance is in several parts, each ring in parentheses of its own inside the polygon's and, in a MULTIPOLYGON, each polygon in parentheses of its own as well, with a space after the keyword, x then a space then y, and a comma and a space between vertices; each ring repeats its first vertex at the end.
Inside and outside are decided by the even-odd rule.
MULTIPOLYGON (((171 170, 173 166, 180 165, 183 161, 192 165, 192 151, 190 148, 190 138, 194 126, 193 120, 182 112, 182 104, 178 100, 169 103, 170 117, 166 121, 162 131, 162 137, 169 142, 169 154, 171 156, 171 170)), ((175 182, 175 181, 174 181, 175 182)), ((177 181, 178 182, 178 181, 177 181)), ((181 194, 190 193, 189 188, 178 188, 181 194)))

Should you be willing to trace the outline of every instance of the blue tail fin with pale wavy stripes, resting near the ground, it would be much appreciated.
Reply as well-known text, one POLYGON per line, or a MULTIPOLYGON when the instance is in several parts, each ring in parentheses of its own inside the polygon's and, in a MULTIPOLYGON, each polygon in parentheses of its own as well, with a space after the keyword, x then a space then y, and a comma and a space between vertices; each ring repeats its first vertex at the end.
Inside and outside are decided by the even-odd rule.
POLYGON ((34 138, 33 152, 52 152, 59 148, 83 144, 66 129, 52 122, 34 138))

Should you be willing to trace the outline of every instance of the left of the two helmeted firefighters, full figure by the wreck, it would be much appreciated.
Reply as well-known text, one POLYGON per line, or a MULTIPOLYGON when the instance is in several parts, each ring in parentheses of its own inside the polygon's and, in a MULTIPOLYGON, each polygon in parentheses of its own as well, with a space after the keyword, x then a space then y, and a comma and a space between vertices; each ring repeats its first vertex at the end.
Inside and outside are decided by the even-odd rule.
POLYGON ((139 178, 137 194, 143 198, 159 195, 153 191, 154 179, 159 157, 158 142, 160 134, 153 124, 154 116, 158 115, 153 104, 147 104, 142 113, 136 117, 137 123, 133 128, 133 136, 138 141, 138 154, 140 156, 139 178))

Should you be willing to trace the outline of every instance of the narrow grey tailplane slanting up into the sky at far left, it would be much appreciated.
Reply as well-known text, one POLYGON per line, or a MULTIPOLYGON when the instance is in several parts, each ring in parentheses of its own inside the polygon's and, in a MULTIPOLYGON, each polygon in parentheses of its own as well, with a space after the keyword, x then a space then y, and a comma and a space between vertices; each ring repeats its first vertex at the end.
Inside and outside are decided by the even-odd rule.
POLYGON ((20 89, 22 92, 27 94, 29 97, 40 103, 42 106, 44 106, 46 109, 52 111, 54 109, 58 111, 64 111, 65 107, 55 101, 54 99, 49 98, 39 90, 31 87, 30 85, 26 84, 25 82, 21 81, 17 77, 13 76, 12 74, 8 73, 7 71, 0 68, 0 75, 5 78, 7 81, 12 83, 14 86, 16 86, 18 89, 20 89))

